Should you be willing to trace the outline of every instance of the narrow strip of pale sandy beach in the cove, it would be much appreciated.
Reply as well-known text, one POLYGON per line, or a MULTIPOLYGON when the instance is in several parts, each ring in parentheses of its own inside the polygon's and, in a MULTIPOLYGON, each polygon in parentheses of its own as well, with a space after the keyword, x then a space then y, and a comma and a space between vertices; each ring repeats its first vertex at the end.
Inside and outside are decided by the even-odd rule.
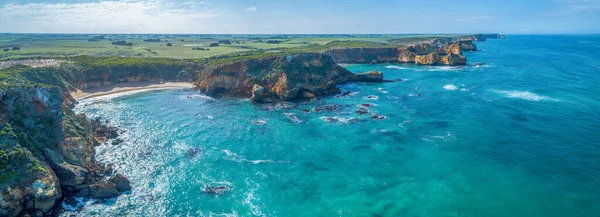
POLYGON ((124 93, 130 91, 144 91, 144 90, 165 90, 165 89, 186 89, 194 88, 195 85, 190 82, 164 82, 164 83, 152 83, 152 82, 136 82, 136 83, 119 83, 109 85, 105 87, 92 88, 86 90, 77 90, 71 92, 71 96, 76 100, 89 99, 99 96, 106 96, 116 93, 124 93))

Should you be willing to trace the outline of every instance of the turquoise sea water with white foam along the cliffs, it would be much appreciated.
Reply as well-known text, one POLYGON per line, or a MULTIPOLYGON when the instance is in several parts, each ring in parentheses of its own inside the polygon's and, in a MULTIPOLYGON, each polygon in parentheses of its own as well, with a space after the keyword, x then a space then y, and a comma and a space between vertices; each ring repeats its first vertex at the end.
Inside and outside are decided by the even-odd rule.
POLYGON ((343 98, 270 106, 171 90, 84 101, 78 112, 125 131, 97 159, 133 191, 75 214, 600 216, 600 36, 477 45, 467 67, 347 66, 404 82, 344 85, 343 98), (362 103, 386 119, 355 113, 362 103), (340 109, 301 110, 327 104, 340 109), (217 185, 231 190, 202 192, 217 185))

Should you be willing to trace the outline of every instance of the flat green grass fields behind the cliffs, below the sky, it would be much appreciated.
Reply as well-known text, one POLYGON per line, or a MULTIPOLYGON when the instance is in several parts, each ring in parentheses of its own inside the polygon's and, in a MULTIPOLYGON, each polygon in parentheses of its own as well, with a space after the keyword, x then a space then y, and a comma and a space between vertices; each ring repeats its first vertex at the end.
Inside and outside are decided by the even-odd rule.
POLYGON ((87 35, 87 34, 0 34, 0 60, 35 58, 122 56, 122 57, 168 57, 206 58, 244 51, 277 52, 285 49, 302 49, 343 41, 344 46, 401 46, 436 37, 457 35, 87 35), (88 41, 101 36, 98 41, 88 41), (160 38, 161 42, 145 42, 144 39, 160 38), (231 44, 220 43, 229 40, 231 44), (279 41, 280 43, 267 43, 279 41), (133 46, 111 44, 126 41, 133 46), (351 42, 351 43, 350 43, 351 42), (167 46, 171 43, 172 46, 167 46), (19 47, 20 50, 12 50, 19 47), (192 50, 202 47, 210 50, 192 50), (4 51, 8 49, 8 51, 4 51))

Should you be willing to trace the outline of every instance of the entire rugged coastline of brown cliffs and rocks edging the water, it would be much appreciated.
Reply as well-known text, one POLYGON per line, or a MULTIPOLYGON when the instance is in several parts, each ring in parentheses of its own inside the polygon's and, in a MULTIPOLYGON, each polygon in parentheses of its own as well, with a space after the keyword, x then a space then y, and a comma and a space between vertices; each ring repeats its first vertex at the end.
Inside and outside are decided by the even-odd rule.
MULTIPOLYGON (((75 114, 72 91, 115 83, 193 80, 196 89, 207 95, 243 97, 256 103, 318 99, 340 94, 339 84, 390 82, 381 72, 354 74, 340 63, 464 65, 463 52, 477 50, 473 41, 491 38, 504 36, 477 34, 404 47, 334 48, 219 65, 171 65, 158 68, 159 73, 144 73, 144 68, 132 65, 101 70, 76 65, 52 68, 64 69, 65 75, 60 76, 65 78, 40 81, 33 76, 38 83, 0 89, 0 216, 56 216, 66 198, 106 199, 131 190, 125 176, 95 159, 95 146, 122 142, 118 129, 107 121, 75 114), (195 78, 190 71, 196 72, 195 78)), ((368 114, 367 107, 356 113, 368 114)), ((315 108, 315 112, 323 109, 335 107, 315 108)), ((371 114, 371 118, 385 117, 371 114)))

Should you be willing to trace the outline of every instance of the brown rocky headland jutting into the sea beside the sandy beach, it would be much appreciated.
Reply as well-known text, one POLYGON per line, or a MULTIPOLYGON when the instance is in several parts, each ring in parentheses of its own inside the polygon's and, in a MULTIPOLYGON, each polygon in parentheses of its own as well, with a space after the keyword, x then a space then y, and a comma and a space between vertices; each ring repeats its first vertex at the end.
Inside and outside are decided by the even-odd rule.
POLYGON ((339 92, 337 84, 377 82, 383 76, 355 75, 321 53, 242 60, 204 69, 197 87, 209 95, 253 101, 309 99, 339 92), (379 77, 378 77, 379 76, 379 77))

